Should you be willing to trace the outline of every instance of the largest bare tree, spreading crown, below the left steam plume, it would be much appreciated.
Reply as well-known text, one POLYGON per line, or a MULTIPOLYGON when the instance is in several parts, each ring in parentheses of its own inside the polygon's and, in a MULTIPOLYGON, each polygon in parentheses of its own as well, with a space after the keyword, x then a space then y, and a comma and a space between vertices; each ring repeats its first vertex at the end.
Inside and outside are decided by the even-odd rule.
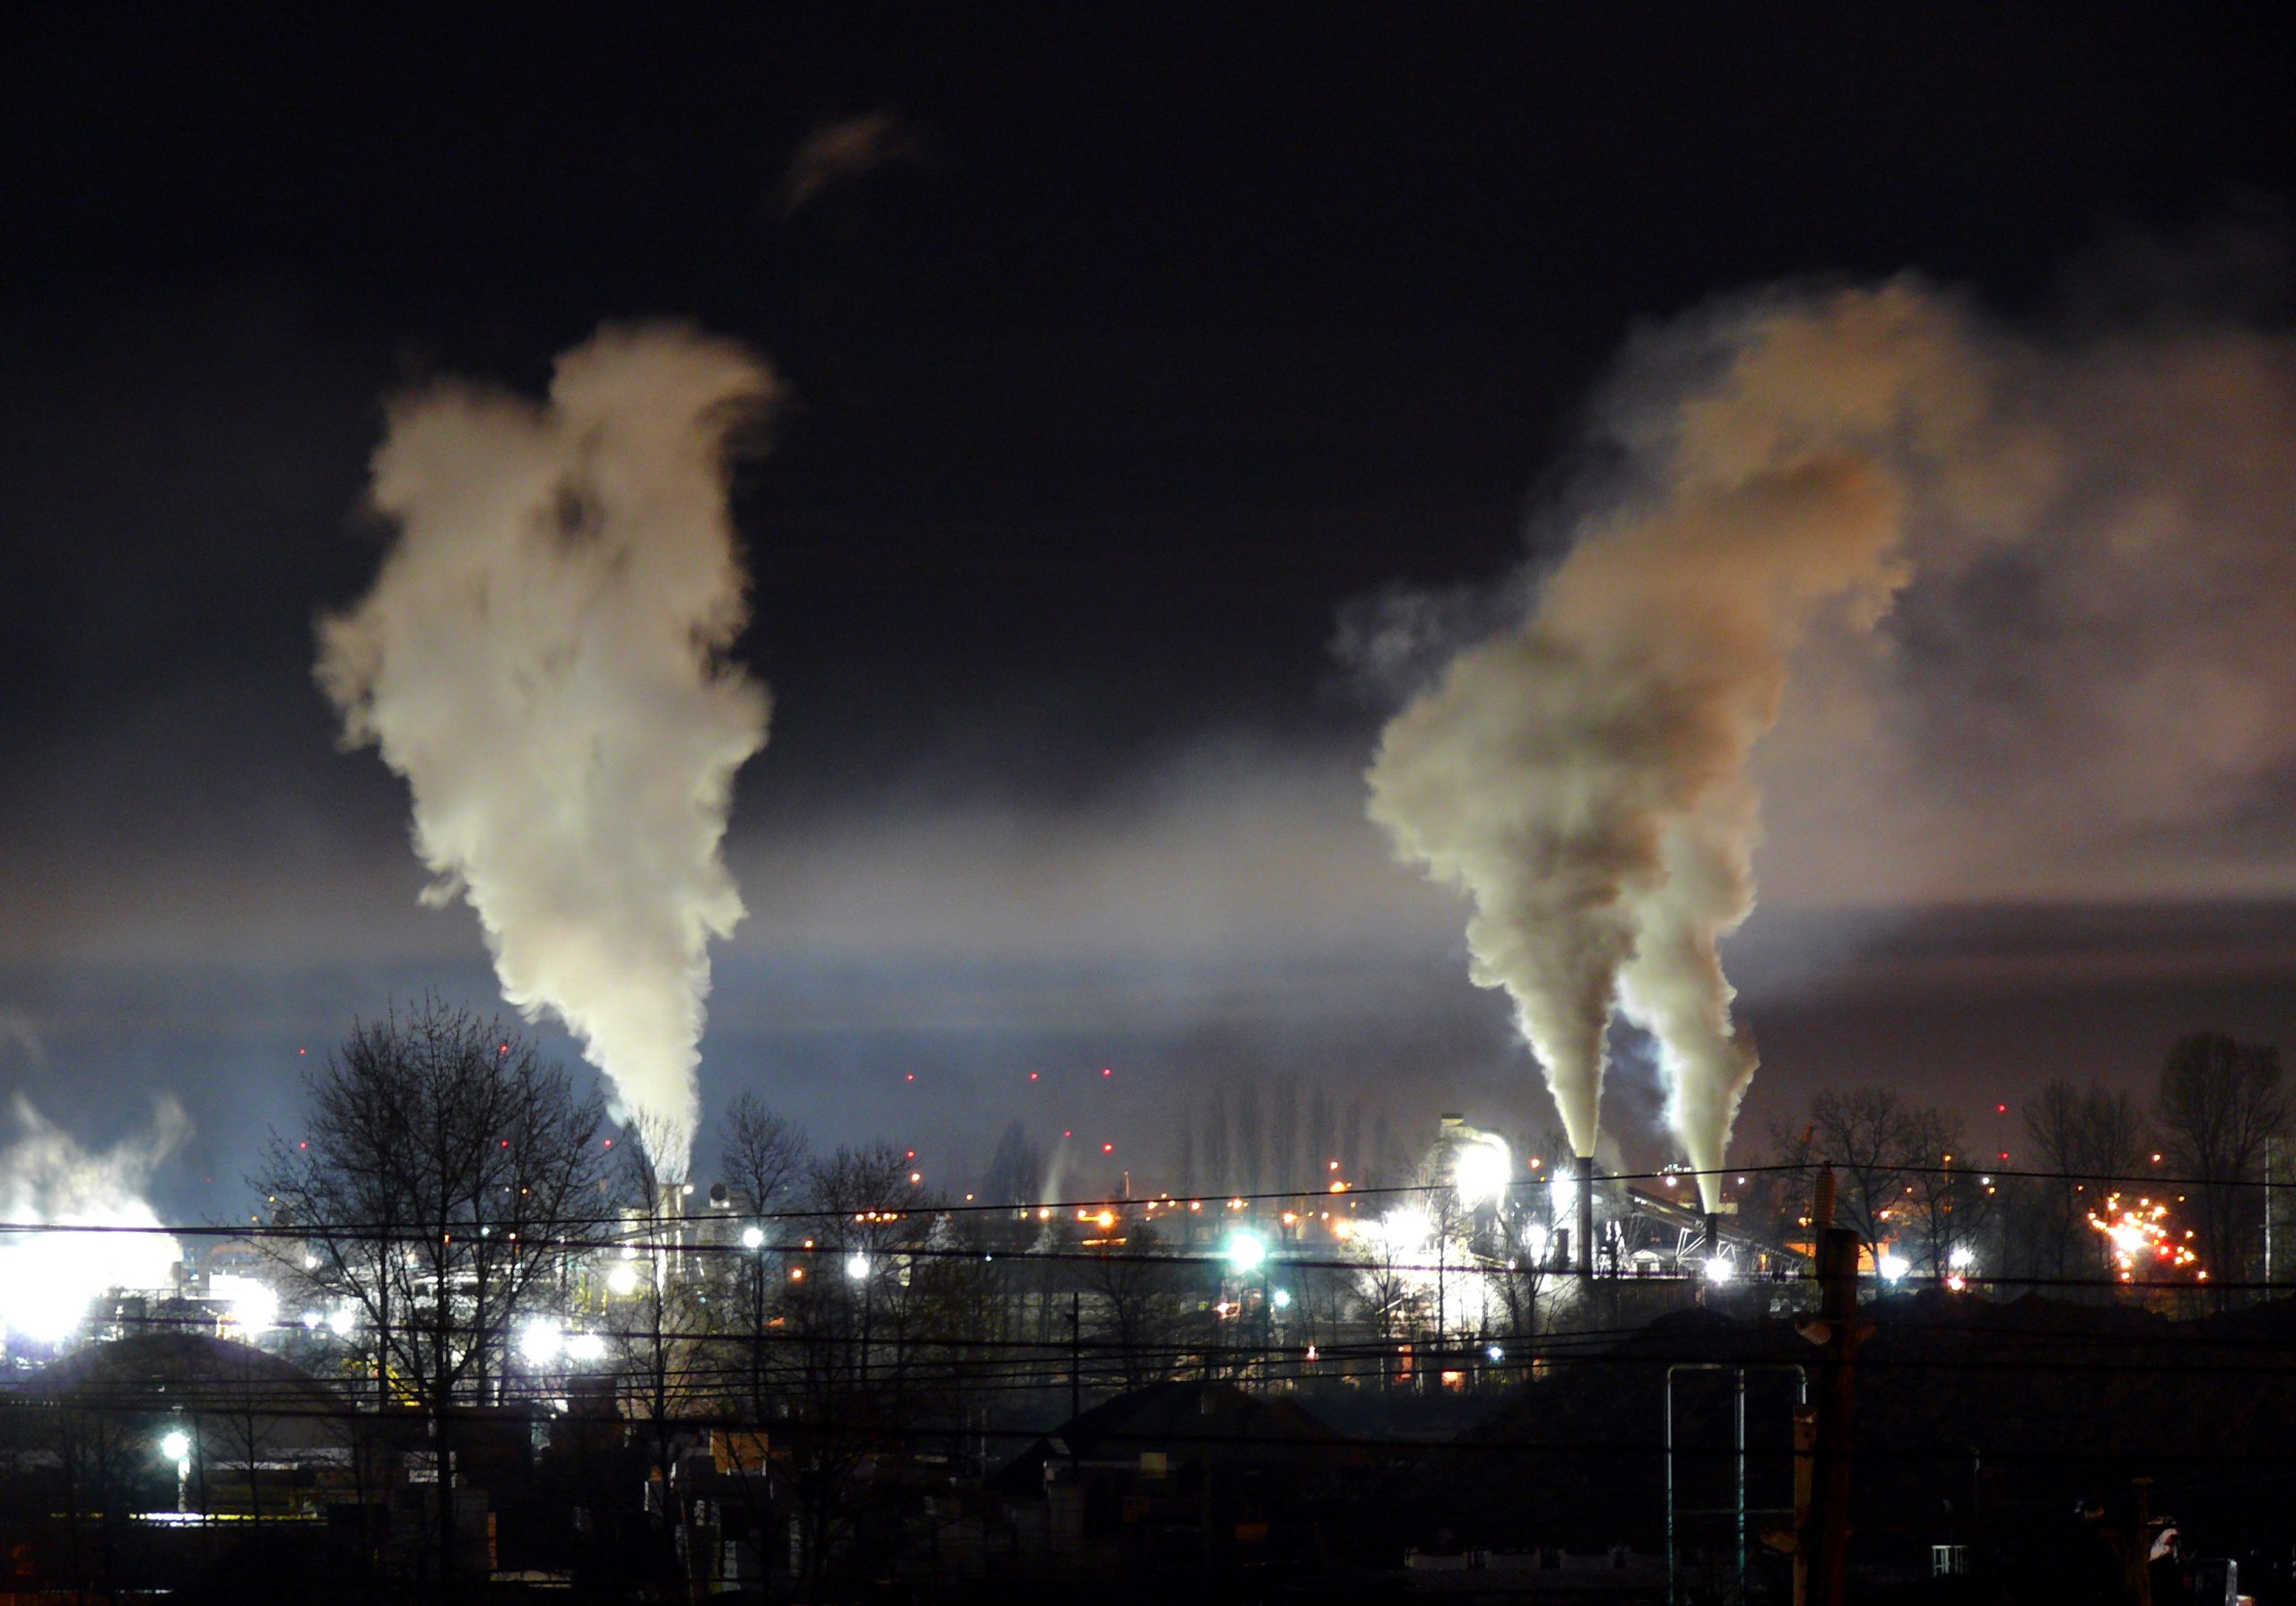
POLYGON ((484 1397, 512 1317, 595 1237, 602 1110, 501 1019, 436 996, 360 1021, 305 1078, 303 1136, 250 1184, 301 1241, 289 1278, 351 1303, 377 1397, 429 1413, 441 1576, 452 1569, 452 1406, 484 1397))

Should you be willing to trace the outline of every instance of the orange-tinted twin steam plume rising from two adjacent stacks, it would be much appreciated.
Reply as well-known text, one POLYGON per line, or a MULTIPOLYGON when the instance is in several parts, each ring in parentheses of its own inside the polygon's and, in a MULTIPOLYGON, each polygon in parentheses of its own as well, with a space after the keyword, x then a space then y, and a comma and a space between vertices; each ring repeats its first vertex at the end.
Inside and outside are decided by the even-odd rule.
POLYGON ((1750 759, 1789 658, 1890 610, 1915 523, 1965 539, 2030 498, 1968 319, 1913 284, 1653 335, 1600 434, 1566 555, 1389 723, 1371 814, 1472 897, 1474 980, 1513 998, 1573 1147, 1623 1012, 1715 1172, 1754 1074, 1717 943, 1754 909, 1750 759))

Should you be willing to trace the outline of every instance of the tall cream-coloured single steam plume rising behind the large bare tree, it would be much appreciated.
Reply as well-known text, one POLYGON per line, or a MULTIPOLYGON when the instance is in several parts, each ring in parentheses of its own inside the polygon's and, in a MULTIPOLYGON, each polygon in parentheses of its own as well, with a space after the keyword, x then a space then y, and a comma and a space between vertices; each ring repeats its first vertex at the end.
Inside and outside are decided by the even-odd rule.
POLYGON ((650 326, 565 353, 540 406, 400 397, 372 486, 397 539, 319 624, 344 739, 413 789, 425 899, 471 899, 503 996, 581 1037, 673 1177, 707 943, 742 918, 732 778, 765 746, 765 686, 726 661, 746 619, 726 498, 771 392, 739 346, 650 326))

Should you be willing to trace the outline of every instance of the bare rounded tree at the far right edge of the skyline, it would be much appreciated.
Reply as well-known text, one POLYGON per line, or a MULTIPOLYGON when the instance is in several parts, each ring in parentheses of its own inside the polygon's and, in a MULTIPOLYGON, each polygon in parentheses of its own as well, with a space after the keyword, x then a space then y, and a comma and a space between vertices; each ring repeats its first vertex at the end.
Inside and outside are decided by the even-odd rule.
POLYGON ((2264 1179, 2264 1145, 2289 1124, 2280 1051, 2223 1032, 2183 1037, 2161 1067, 2154 1110, 2170 1163, 2195 1179, 2202 1266, 2220 1285, 2243 1278, 2264 1221, 2252 1186, 2264 1179))

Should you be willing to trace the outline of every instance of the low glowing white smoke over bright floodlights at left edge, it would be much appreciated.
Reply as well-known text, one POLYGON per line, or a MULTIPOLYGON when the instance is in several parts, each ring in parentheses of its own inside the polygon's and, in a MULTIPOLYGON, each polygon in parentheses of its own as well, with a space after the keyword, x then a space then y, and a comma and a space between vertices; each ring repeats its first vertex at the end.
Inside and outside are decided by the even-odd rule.
POLYGON ((184 1250, 161 1230, 142 1186, 191 1136, 184 1106, 161 1097, 149 1131, 103 1154, 48 1124, 23 1094, 14 1115, 16 1138, 0 1149, 0 1221, 48 1230, 0 1234, 0 1326, 57 1342, 108 1289, 170 1289, 184 1250))

